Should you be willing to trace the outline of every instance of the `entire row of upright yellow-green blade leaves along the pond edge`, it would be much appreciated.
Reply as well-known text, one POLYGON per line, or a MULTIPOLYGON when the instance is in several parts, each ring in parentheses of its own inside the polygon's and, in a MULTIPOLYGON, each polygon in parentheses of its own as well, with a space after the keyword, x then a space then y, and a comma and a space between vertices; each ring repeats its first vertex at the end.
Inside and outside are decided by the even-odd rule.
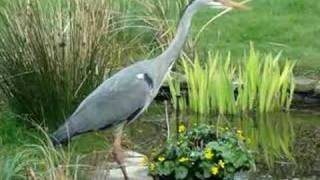
MULTIPOLYGON (((289 110, 295 63, 288 60, 282 63, 280 55, 260 55, 252 47, 241 65, 231 63, 230 53, 225 59, 209 53, 204 61, 198 55, 193 59, 185 56, 188 109, 199 114, 289 110)), ((180 87, 170 88, 171 92, 178 92, 180 87)))

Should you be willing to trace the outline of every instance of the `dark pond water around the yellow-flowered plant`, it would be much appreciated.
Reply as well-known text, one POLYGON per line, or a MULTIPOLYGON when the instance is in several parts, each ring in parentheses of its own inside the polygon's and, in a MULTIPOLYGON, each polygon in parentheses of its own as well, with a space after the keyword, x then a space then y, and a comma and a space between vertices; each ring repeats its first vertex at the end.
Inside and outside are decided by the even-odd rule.
MULTIPOLYGON (((126 135, 133 148, 149 154, 161 148, 167 138, 165 108, 151 108, 131 124, 126 135)), ((292 110, 247 117, 196 117, 169 112, 171 130, 176 119, 185 124, 208 122, 239 128, 256 152, 257 170, 250 179, 320 179, 320 109, 292 110)))

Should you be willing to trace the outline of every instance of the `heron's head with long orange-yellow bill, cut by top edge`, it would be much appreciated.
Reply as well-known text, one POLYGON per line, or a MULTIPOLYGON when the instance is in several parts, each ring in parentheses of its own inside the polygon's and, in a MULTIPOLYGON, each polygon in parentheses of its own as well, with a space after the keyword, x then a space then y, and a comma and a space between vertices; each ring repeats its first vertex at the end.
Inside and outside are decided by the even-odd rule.
POLYGON ((231 0, 195 0, 194 3, 202 6, 209 6, 210 8, 214 9, 248 9, 246 6, 231 0))

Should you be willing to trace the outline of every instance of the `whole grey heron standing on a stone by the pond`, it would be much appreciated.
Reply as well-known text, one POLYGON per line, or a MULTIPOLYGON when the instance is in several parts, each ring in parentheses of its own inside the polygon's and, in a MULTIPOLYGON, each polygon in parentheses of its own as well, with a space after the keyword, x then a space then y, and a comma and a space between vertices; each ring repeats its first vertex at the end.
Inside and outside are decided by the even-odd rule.
POLYGON ((115 127, 113 155, 124 178, 128 179, 123 166, 124 151, 121 149, 123 127, 137 119, 157 95, 185 44, 193 15, 203 7, 244 8, 230 0, 191 1, 168 48, 159 56, 132 64, 105 80, 80 103, 65 124, 52 134, 53 143, 61 144, 79 134, 115 127))

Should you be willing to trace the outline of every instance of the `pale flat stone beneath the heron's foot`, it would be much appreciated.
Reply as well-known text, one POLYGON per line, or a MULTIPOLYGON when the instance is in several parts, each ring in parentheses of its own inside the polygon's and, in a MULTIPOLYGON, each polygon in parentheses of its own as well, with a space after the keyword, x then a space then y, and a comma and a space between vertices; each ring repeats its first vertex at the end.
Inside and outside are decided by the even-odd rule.
MULTIPOLYGON (((127 152, 128 157, 126 159, 126 170, 130 180, 152 180, 153 178, 148 176, 148 168, 144 162, 145 156, 136 152, 127 152)), ((108 180, 123 180, 123 174, 121 169, 113 166, 109 171, 108 180)))

